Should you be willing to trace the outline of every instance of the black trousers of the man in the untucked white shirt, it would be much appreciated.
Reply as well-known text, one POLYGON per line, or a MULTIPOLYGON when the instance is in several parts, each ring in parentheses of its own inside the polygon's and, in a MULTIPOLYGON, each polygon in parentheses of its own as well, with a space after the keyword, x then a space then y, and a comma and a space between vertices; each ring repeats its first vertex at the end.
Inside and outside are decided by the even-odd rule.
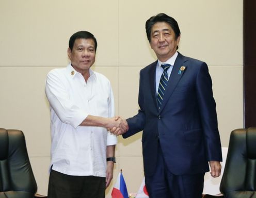
POLYGON ((104 198, 105 177, 72 176, 51 170, 48 198, 104 198))

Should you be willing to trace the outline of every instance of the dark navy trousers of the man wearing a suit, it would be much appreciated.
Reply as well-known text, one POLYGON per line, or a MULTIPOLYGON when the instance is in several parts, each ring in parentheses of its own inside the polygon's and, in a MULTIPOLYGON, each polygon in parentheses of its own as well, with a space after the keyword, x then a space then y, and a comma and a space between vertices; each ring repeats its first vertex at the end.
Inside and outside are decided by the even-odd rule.
POLYGON ((202 198, 204 173, 172 174, 166 167, 160 146, 157 158, 154 175, 145 176, 150 198, 202 198))

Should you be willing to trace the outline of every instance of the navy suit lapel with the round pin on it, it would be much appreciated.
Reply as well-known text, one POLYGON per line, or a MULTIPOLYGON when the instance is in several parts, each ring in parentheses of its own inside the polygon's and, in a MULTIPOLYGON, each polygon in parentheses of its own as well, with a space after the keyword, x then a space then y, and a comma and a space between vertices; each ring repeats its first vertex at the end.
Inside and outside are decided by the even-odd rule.
POLYGON ((187 68, 184 65, 184 62, 186 61, 186 59, 184 58, 184 56, 182 56, 180 53, 177 57, 177 59, 174 62, 172 71, 171 71, 171 75, 169 77, 169 81, 168 81, 168 85, 165 91, 165 95, 163 98, 163 102, 162 102, 162 106, 160 108, 160 112, 164 109, 167 101, 169 100, 169 97, 171 96, 173 90, 175 89, 175 87, 177 86, 177 84, 179 83, 180 79, 182 78, 184 72, 186 70, 180 71, 181 67, 184 66, 185 69, 187 68))

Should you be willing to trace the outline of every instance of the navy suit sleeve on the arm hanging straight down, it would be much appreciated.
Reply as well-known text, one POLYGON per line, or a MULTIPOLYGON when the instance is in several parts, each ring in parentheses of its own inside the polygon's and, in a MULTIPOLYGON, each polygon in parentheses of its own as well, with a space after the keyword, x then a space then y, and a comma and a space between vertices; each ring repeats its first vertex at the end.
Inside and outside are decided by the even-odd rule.
POLYGON ((205 62, 202 63, 198 71, 196 87, 207 158, 209 161, 222 161, 216 103, 212 91, 212 79, 205 62))

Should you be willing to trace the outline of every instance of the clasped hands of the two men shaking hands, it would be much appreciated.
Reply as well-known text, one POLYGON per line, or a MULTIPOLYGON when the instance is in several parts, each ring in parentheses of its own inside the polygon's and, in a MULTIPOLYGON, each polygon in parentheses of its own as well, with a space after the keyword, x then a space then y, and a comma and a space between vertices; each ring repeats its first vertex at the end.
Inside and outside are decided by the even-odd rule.
POLYGON ((119 136, 126 133, 128 129, 128 123, 125 119, 121 118, 120 116, 109 118, 107 130, 110 131, 111 134, 119 136))

